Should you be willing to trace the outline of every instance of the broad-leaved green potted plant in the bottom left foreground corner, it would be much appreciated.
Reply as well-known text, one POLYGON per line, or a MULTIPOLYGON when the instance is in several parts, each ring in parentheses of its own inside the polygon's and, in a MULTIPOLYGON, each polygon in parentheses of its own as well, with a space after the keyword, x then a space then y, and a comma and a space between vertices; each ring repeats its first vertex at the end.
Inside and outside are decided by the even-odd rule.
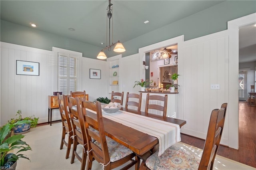
POLYGON ((24 154, 21 154, 20 152, 26 151, 26 150, 32 150, 30 146, 21 140, 24 138, 24 135, 17 134, 17 135, 11 135, 11 130, 14 126, 20 125, 23 123, 27 123, 28 121, 18 121, 16 123, 10 124, 7 123, 3 127, 0 127, 0 166, 2 169, 12 169, 15 170, 17 160, 19 158, 27 158, 24 156, 24 154), (19 149, 15 154, 14 153, 8 153, 11 150, 19 149))

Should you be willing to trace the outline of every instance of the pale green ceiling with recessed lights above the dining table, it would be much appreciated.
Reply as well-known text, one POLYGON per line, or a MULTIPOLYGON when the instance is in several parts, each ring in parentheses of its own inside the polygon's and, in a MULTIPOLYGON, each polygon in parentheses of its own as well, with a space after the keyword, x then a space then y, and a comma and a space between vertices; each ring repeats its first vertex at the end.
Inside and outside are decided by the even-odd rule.
MULTIPOLYGON (((223 1, 112 0, 113 42, 127 42, 221 2, 223 1), (146 20, 149 21, 148 24, 144 24, 146 20)), ((27 27, 34 23, 37 25, 34 29, 104 48, 108 45, 107 6, 108 0, 1 0, 0 16, 1 20, 27 27), (74 31, 70 31, 69 28, 73 28, 74 31), (100 44, 101 42, 104 44, 100 44)), ((241 35, 246 36, 240 38, 240 47, 247 48, 244 51, 248 52, 252 49, 251 45, 256 44, 256 40, 245 43, 253 36, 247 34, 246 28, 240 31, 241 35)), ((251 32, 255 33, 256 28, 251 32)), ((246 53, 243 52, 243 56, 244 54, 246 53)), ((243 59, 243 62, 248 61, 252 59, 243 59)))

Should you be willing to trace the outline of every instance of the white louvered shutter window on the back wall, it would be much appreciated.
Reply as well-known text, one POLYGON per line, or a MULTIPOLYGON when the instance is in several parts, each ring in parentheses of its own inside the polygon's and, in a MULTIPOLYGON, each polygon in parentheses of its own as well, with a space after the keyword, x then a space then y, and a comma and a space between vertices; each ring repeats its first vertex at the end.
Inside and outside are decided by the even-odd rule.
POLYGON ((58 53, 58 91, 68 95, 70 91, 77 91, 77 57, 58 53))

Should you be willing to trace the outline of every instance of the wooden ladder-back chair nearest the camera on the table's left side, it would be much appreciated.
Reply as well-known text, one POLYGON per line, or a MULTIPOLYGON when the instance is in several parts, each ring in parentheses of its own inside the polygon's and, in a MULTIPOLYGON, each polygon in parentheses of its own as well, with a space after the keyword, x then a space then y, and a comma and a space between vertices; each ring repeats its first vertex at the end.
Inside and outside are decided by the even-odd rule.
POLYGON ((112 140, 108 136, 105 136, 102 110, 99 101, 96 104, 89 101, 82 101, 82 113, 78 111, 79 116, 84 116, 86 135, 88 140, 88 156, 86 169, 92 168, 92 161, 97 160, 102 169, 110 170, 121 166, 122 164, 131 161, 122 169, 128 169, 135 164, 135 169, 138 170, 140 166, 140 159, 130 149, 126 148, 122 144, 119 144, 115 140, 112 140), (96 113, 97 119, 86 115, 87 109, 96 113), (90 127, 95 127, 98 131, 92 130, 90 127), (92 141, 94 138, 96 141, 92 141), (135 160, 132 158, 135 157, 135 160))

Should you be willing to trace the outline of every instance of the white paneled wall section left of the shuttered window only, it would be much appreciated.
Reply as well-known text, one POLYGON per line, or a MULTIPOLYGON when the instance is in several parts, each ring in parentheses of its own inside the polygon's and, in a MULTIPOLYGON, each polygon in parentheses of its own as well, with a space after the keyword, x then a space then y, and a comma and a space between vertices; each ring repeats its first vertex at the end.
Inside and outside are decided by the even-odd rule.
POLYGON ((35 115, 40 117, 39 123, 48 121, 51 54, 52 51, 1 42, 1 125, 14 118, 18 109, 23 117, 35 115), (16 60, 38 62, 39 76, 16 75, 16 60))

